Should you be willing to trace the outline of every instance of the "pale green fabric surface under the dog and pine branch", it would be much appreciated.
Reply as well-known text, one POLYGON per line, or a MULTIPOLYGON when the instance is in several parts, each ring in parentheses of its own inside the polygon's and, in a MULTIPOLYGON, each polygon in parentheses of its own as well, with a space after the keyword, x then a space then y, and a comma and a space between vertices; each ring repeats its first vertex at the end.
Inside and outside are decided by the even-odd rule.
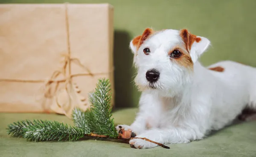
MULTIPOLYGON (((116 124, 131 124, 137 109, 113 112, 116 124)), ((73 124, 63 115, 0 113, 0 157, 256 157, 256 121, 236 123, 204 140, 172 144, 170 149, 132 149, 127 143, 102 140, 28 142, 9 137, 9 123, 25 119, 48 119, 73 124)))

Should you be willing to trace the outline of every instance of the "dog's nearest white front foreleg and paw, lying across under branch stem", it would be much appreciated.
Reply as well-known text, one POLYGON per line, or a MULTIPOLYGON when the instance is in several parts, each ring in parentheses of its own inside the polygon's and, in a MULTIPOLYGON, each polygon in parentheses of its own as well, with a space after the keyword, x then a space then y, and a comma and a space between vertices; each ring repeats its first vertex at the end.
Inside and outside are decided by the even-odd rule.
MULTIPOLYGON (((204 134, 198 130, 190 129, 153 129, 145 131, 144 133, 136 137, 145 137, 149 140, 162 143, 162 144, 172 144, 172 143, 188 143, 191 140, 198 140, 204 137, 204 134)), ((132 148, 136 149, 148 149, 158 146, 157 144, 148 142, 143 139, 132 139, 129 141, 132 148)))

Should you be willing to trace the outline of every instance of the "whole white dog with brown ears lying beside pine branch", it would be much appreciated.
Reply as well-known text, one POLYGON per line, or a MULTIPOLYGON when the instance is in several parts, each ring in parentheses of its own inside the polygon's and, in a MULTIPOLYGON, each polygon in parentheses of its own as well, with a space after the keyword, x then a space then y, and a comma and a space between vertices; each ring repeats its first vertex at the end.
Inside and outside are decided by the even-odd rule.
MULTIPOLYGON (((244 108, 256 109, 256 68, 231 61, 203 67, 198 57, 209 44, 186 29, 147 28, 134 38, 140 111, 131 126, 116 129, 163 144, 187 143, 227 126, 244 108)), ((137 149, 157 146, 142 139, 129 143, 137 149)))

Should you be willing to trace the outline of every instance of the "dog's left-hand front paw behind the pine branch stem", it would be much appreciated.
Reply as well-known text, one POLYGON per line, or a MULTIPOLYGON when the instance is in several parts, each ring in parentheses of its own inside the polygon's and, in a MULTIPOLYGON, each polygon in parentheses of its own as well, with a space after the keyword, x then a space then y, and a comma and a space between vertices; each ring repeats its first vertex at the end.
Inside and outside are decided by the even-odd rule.
POLYGON ((124 139, 130 139, 131 137, 136 136, 136 134, 132 132, 131 127, 127 125, 117 125, 116 130, 118 132, 119 137, 124 139))

